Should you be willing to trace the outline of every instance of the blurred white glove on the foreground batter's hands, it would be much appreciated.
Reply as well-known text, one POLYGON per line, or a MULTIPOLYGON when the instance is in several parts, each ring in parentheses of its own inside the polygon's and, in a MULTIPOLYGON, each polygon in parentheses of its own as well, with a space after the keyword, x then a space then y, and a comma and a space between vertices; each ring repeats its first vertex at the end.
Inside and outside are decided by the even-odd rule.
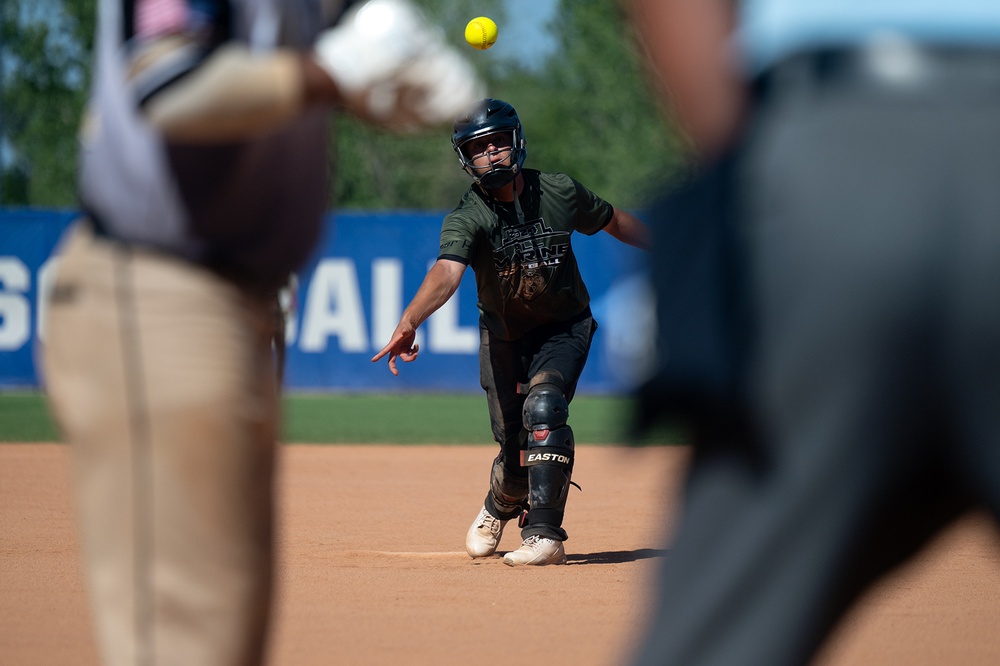
POLYGON ((452 122, 484 96, 472 65, 408 0, 352 7, 315 54, 349 109, 398 131, 452 122))

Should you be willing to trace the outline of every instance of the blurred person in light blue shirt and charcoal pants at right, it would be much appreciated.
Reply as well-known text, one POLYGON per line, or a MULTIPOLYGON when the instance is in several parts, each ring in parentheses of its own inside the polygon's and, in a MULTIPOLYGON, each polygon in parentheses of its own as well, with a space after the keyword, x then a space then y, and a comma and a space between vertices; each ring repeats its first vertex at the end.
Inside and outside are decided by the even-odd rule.
POLYGON ((653 216, 640 405, 695 455, 635 662, 803 664, 960 513, 1000 515, 1000 3, 630 9, 699 157, 653 216))

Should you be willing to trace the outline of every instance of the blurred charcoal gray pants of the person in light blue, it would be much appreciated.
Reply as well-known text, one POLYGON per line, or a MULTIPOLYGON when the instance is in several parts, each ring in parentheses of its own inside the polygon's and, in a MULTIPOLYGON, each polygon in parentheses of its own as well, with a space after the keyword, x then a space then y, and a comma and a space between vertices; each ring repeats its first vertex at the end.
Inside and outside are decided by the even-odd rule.
POLYGON ((696 443, 639 664, 806 663, 960 512, 1000 515, 1000 53, 859 63, 791 63, 750 126, 754 427, 696 443))

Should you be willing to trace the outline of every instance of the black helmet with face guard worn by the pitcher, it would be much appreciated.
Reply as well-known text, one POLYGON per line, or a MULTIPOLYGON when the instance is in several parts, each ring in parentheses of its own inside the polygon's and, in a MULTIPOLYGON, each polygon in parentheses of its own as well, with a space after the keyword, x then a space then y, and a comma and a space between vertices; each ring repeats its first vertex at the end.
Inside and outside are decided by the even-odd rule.
POLYGON ((460 115, 455 121, 451 143, 465 171, 487 190, 499 189, 513 181, 528 153, 517 111, 507 102, 497 99, 481 100, 460 115), (498 135, 493 144, 495 150, 490 151, 491 158, 487 163, 477 167, 473 164, 474 159, 487 148, 481 140, 490 135, 498 135), (471 154, 470 148, 477 142, 480 150, 471 154), (507 151, 510 152, 509 158, 492 160, 492 155, 507 151))

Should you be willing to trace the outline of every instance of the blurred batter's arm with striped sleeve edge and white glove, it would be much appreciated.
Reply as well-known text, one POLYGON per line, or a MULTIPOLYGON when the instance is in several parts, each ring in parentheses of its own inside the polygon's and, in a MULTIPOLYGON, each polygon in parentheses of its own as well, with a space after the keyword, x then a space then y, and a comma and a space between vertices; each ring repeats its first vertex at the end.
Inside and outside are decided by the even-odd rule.
POLYGON ((133 57, 130 78, 150 124, 195 143, 273 132, 313 104, 408 132, 451 122, 483 95, 471 64, 409 0, 352 6, 310 52, 210 49, 164 33, 133 57))

